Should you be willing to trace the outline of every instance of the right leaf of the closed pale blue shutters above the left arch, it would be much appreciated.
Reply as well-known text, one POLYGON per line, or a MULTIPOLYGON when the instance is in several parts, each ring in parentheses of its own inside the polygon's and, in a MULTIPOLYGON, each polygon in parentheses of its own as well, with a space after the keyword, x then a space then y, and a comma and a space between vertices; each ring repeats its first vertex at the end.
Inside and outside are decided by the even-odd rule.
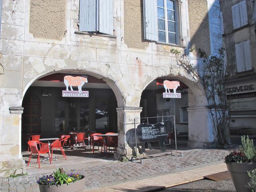
POLYGON ((113 35, 113 0, 99 0, 99 32, 113 35))

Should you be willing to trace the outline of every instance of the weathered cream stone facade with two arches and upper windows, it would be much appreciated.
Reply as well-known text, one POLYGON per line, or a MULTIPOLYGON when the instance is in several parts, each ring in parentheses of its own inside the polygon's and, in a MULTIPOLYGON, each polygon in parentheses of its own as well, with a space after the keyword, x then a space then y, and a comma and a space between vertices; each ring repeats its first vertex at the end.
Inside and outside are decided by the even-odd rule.
MULTIPOLYGON (((202 147, 214 142, 204 90, 177 66, 170 49, 186 52, 188 47, 195 46, 209 54, 218 50, 221 45, 218 0, 164 0, 165 6, 175 4, 170 10, 164 9, 165 16, 170 11, 172 14, 175 12, 171 19, 175 31, 171 28, 170 34, 168 32, 172 44, 163 42, 167 36, 161 36, 162 42, 160 37, 159 40, 145 40, 145 36, 150 34, 146 28, 151 23, 145 17, 149 0, 106 1, 111 5, 107 9, 110 17, 103 17, 110 26, 108 29, 100 28, 101 17, 99 26, 97 22, 94 26, 94 22, 90 24, 88 19, 82 18, 82 12, 86 15, 86 11, 81 10, 81 1, 86 2, 2 0, 0 176, 24 172, 21 154, 22 102, 27 90, 35 86, 39 79, 57 73, 88 75, 106 83, 114 92, 118 132, 116 158, 132 154, 126 142, 126 132, 134 128, 134 118, 140 118, 142 92, 158 78, 178 80, 188 87, 188 144, 202 147), (88 26, 95 29, 81 30, 88 26)), ((153 10, 157 10, 154 6, 159 9, 163 6, 161 1, 152 2, 155 2, 151 6, 153 10)), ((98 3, 96 6, 100 9, 106 6, 101 0, 98 3)), ((100 10, 99 15, 104 11, 105 8, 100 10)), ((151 18, 153 20, 156 21, 156 18, 151 18)), ((167 20, 164 22, 166 26, 167 20)), ((154 30, 159 29, 162 35, 163 28, 156 27, 154 30)), ((154 34, 154 38, 156 36, 158 34, 154 34)), ((200 63, 197 56, 196 51, 190 55, 195 64, 200 63)), ((46 121, 41 119, 41 123, 46 121)))

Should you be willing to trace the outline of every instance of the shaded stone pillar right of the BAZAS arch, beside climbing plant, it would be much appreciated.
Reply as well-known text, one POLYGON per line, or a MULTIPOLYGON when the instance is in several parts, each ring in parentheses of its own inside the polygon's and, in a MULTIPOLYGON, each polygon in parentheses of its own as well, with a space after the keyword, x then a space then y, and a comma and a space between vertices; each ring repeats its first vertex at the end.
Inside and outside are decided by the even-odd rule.
POLYGON ((206 107, 190 107, 188 110, 188 145, 209 147, 216 142, 210 110, 206 107))

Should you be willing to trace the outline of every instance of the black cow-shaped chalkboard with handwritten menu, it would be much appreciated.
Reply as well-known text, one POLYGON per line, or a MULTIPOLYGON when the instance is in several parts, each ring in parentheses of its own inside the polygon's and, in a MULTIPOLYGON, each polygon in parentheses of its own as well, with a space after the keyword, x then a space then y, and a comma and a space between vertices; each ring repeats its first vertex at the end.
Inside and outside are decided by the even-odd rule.
POLYGON ((166 151, 164 141, 166 140, 168 134, 173 132, 173 124, 174 122, 172 120, 167 120, 153 125, 149 123, 139 124, 137 126, 136 133, 138 140, 142 144, 142 148, 144 148, 144 144, 147 142, 149 148, 152 149, 150 142, 159 141, 160 150, 163 152, 166 151))

